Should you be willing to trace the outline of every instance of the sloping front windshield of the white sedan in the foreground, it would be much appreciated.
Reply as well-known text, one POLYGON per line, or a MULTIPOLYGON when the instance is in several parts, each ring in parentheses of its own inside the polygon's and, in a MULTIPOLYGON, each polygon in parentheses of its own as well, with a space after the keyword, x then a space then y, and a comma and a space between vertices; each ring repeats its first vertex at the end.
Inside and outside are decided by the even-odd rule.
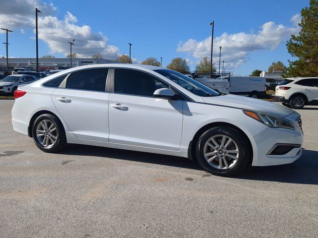
POLYGON ((157 69, 155 72, 163 75, 164 77, 172 80, 173 82, 179 84, 181 87, 190 91, 191 93, 201 96, 201 97, 211 97, 211 96, 219 96, 220 93, 214 91, 212 88, 185 76, 182 73, 176 72, 171 69, 157 69))

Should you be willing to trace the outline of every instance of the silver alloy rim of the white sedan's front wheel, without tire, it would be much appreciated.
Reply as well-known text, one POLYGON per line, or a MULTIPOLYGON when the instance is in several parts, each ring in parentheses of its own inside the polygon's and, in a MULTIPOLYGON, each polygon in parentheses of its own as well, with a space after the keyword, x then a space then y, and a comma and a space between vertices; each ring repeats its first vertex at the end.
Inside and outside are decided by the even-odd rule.
POLYGON ((239 147, 227 135, 212 136, 204 144, 203 153, 212 167, 221 170, 232 168, 239 159, 239 147))

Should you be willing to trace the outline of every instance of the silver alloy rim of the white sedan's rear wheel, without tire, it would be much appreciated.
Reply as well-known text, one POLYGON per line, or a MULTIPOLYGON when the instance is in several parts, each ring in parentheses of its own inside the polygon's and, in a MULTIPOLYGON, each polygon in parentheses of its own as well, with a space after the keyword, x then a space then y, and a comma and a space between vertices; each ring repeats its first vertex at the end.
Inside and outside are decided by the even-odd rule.
POLYGON ((56 126, 48 119, 41 120, 36 127, 36 137, 44 147, 52 147, 58 139, 56 126))

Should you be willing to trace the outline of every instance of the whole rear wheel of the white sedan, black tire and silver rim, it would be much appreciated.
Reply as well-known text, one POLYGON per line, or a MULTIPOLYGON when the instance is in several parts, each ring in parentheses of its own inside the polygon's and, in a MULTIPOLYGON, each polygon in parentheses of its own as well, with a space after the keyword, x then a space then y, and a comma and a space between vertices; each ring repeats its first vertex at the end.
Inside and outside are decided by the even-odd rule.
POLYGON ((59 152, 67 144, 62 123, 50 114, 43 114, 34 120, 32 136, 36 146, 48 153, 59 152))

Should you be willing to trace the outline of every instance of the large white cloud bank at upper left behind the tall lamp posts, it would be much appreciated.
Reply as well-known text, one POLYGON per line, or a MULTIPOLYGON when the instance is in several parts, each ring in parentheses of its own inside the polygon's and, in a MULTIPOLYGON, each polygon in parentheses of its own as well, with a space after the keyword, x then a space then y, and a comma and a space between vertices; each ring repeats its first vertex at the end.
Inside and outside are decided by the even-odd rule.
MULTIPOLYGON (((14 30, 20 28, 35 28, 35 8, 41 13, 38 14, 39 39, 46 42, 50 48, 50 54, 70 53, 69 41, 75 40, 72 47, 74 53, 80 57, 91 57, 94 54, 101 54, 105 59, 114 60, 119 55, 116 46, 108 45, 107 38, 101 32, 93 32, 88 25, 79 26, 78 19, 71 12, 63 19, 58 19, 53 14, 57 8, 53 3, 45 3, 41 0, 4 0, 1 1, 0 22, 1 27, 14 30)), ((35 30, 34 30, 35 32, 35 30)), ((4 33, 4 31, 0 31, 4 33)), ((31 37, 33 39, 34 37, 31 37)))

